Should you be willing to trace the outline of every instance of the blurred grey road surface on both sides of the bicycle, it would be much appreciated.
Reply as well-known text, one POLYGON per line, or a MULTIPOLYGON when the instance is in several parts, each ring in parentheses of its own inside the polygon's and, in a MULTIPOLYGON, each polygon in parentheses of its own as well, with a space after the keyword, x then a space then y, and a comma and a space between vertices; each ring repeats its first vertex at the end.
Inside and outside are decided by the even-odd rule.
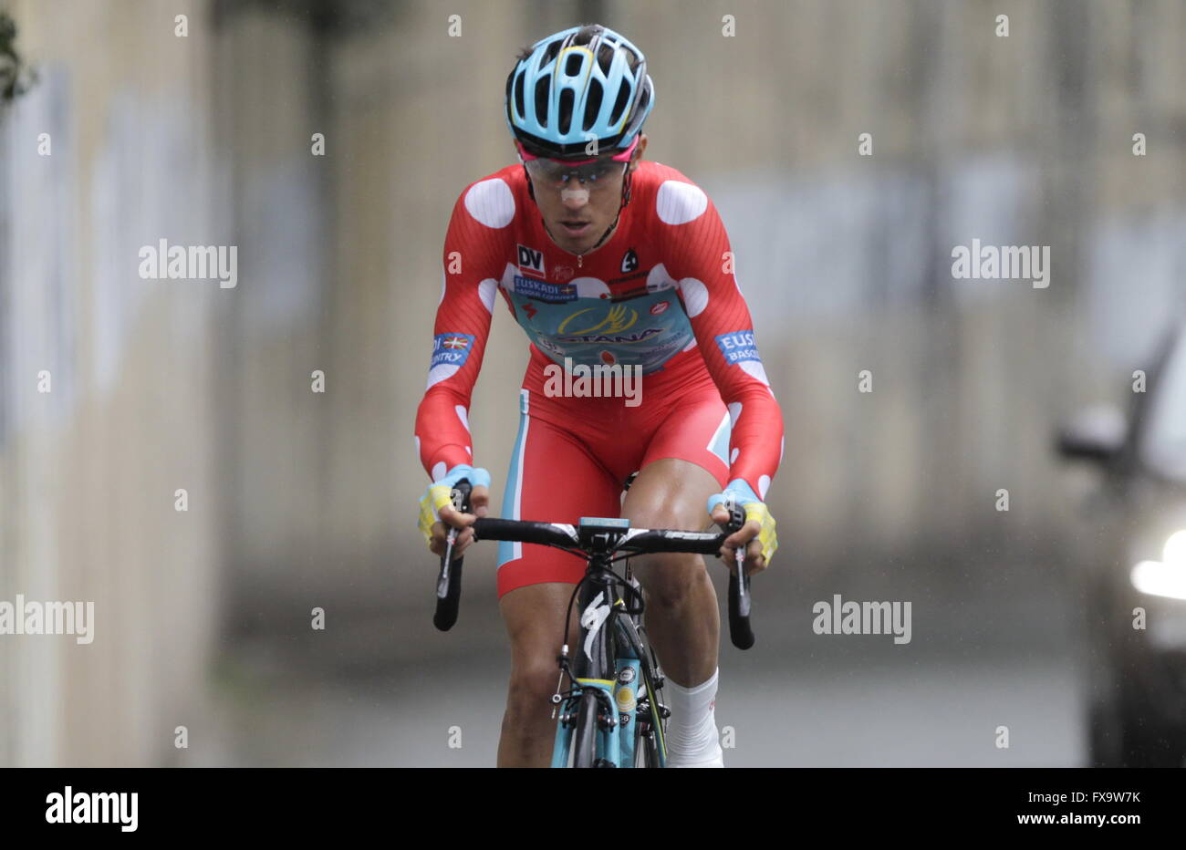
MULTIPOLYGON (((916 590, 900 646, 815 634, 810 601, 831 597, 823 583, 799 587, 798 601, 777 588, 758 596, 758 645, 742 653, 726 638, 721 653, 716 717, 735 744, 726 765, 1083 765, 1071 595, 1002 586, 961 602, 916 590)), ((492 599, 474 596, 448 634, 425 612, 295 651, 237 646, 221 673, 215 743, 195 747, 193 763, 492 766, 509 659, 492 599)))

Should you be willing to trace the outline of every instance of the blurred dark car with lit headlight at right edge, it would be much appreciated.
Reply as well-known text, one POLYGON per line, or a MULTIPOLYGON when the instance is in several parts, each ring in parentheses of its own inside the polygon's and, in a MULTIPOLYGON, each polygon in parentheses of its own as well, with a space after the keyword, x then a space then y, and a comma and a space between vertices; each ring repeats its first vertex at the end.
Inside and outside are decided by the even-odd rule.
MULTIPOLYGON (((1134 378, 1135 383, 1136 378, 1134 378)), ((1089 500, 1090 758, 1180 767, 1186 756, 1186 320, 1178 320, 1127 414, 1080 413, 1064 458, 1103 473, 1089 500)))

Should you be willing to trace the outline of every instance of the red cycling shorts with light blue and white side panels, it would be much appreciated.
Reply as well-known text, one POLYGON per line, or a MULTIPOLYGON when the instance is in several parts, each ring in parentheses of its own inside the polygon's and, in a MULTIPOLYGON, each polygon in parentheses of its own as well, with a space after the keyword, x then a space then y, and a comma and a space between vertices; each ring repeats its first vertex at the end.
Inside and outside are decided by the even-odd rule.
MULTIPOLYGON (((725 488, 729 414, 702 360, 674 358, 672 369, 645 376, 637 407, 620 397, 549 396, 550 363, 531 346, 503 517, 574 525, 580 517, 617 517, 630 474, 662 458, 696 464, 725 488)), ((499 542, 498 596, 527 584, 576 583, 585 569, 559 549, 499 542)))

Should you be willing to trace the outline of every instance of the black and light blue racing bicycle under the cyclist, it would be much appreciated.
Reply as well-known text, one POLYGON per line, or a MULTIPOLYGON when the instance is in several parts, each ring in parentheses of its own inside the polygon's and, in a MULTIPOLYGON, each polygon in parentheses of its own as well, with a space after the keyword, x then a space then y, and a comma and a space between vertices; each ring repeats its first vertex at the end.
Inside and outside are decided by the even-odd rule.
MULTIPOLYGON (((627 484, 629 486, 629 484, 627 484)), ((470 484, 459 481, 453 505, 471 512, 470 484)), ((573 589, 560 656, 560 683, 553 704, 560 709, 551 767, 664 767, 664 733, 670 711, 659 702, 663 675, 642 625, 643 595, 630 569, 630 556, 650 552, 716 555, 725 538, 741 528, 745 513, 726 503, 729 523, 721 533, 671 529, 631 529, 629 519, 581 517, 578 524, 482 517, 474 541, 514 541, 555 547, 584 557, 585 576, 573 589), (612 564, 625 561, 625 575, 612 564), (572 599, 580 595, 578 654, 569 658, 572 599), (626 600, 630 600, 627 602, 626 600), (562 690, 565 677, 569 688, 562 690), (610 678, 612 676, 612 678, 610 678), (642 684, 642 691, 639 690, 642 684)), ((457 529, 449 529, 436 581, 433 624, 448 631, 457 622, 464 558, 451 560, 457 529)), ((729 638, 741 650, 753 646, 750 625, 750 576, 742 555, 729 574, 729 638), (739 580, 739 576, 742 576, 739 580)), ((556 716, 555 709, 553 717, 556 716)))

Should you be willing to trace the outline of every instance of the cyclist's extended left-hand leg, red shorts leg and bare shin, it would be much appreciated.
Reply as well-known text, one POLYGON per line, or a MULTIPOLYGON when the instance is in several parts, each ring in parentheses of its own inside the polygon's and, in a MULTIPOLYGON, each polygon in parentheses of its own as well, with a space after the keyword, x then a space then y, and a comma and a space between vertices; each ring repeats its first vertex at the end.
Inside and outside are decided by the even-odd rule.
MULTIPOLYGON (((521 395, 519 433, 503 499, 506 519, 573 523, 581 516, 617 516, 621 484, 566 429, 530 410, 546 405, 521 395), (530 402, 530 403, 529 403, 530 402)), ((585 562, 557 549, 499 543, 499 609, 511 641, 511 680, 498 743, 499 767, 547 767, 556 722, 550 697, 560 678, 565 615, 585 562)), ((576 615, 569 646, 576 643, 576 615)))

